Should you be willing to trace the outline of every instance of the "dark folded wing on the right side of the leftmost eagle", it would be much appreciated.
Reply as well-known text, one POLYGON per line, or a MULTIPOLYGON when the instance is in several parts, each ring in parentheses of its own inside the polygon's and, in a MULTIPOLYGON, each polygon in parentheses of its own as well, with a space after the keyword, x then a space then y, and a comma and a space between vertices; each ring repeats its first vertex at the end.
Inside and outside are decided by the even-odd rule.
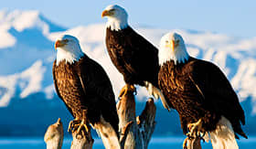
MULTIPOLYGON (((116 111, 115 96, 112 83, 105 70, 96 61, 88 58, 80 59, 80 67, 77 69, 80 84, 85 90, 86 96, 90 97, 95 108, 101 111, 105 121, 110 122, 113 129, 118 133, 118 115, 116 111), (87 91, 87 92, 86 92, 87 91)), ((92 108, 92 107, 91 107, 92 108)))

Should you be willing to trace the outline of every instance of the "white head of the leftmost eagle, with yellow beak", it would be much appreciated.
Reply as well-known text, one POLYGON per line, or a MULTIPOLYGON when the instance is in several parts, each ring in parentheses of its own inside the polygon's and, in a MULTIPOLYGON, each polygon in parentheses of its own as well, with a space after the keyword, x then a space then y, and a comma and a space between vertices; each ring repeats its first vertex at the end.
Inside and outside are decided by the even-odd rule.
POLYGON ((55 42, 55 49, 57 50, 57 65, 62 60, 71 64, 84 55, 80 48, 79 39, 70 35, 59 37, 55 42))

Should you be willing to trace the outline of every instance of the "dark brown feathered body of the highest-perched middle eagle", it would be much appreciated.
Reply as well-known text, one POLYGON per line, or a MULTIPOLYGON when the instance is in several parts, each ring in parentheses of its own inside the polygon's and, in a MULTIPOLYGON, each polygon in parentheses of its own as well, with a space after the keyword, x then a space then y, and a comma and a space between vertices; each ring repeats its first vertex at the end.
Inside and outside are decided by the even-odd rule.
POLYGON ((144 81, 148 81, 158 87, 158 49, 133 28, 116 31, 107 27, 106 46, 126 84, 144 86, 144 81))

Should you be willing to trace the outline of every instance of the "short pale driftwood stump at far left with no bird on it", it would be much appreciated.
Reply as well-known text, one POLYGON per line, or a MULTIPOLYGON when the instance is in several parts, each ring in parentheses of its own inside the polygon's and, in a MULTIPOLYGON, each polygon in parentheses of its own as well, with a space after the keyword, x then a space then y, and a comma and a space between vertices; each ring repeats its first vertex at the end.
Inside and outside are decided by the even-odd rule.
POLYGON ((63 142, 63 126, 60 118, 56 123, 48 127, 44 140, 47 144, 47 149, 61 149, 63 142))

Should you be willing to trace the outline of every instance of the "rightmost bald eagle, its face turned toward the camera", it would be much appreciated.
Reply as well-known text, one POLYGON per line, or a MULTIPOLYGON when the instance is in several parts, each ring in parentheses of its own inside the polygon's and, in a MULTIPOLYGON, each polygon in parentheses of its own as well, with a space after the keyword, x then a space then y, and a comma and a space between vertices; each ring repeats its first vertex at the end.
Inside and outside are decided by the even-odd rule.
POLYGON ((213 147, 238 148, 235 137, 244 112, 229 80, 213 63, 188 55, 183 38, 168 33, 161 38, 158 83, 168 105, 179 113, 184 133, 209 133, 213 147))

